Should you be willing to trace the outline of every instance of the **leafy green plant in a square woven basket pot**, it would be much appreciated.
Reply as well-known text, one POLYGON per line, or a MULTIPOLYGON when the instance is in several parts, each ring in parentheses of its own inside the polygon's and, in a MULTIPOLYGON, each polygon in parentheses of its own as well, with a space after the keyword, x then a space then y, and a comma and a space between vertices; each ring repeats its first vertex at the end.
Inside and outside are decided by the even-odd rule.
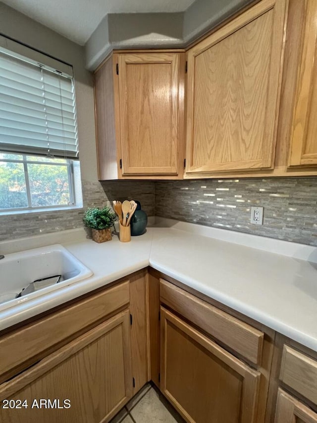
POLYGON ((111 227, 115 222, 115 214, 109 207, 89 207, 84 214, 84 225, 91 228, 95 242, 111 241, 111 227))

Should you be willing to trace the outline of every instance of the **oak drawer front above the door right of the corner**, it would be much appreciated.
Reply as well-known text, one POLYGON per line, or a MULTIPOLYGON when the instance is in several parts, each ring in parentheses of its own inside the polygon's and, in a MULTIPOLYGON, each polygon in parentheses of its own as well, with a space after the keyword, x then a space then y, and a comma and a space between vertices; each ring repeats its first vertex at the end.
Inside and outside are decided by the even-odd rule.
POLYGON ((245 357, 261 364, 264 333, 160 279, 160 301, 245 357))

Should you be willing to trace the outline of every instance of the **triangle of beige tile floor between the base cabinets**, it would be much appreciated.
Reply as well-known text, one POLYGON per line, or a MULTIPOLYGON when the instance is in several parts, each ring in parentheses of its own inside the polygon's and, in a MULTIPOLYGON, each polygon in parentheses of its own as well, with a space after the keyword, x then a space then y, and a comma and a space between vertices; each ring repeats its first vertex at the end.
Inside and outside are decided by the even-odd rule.
POLYGON ((146 384, 110 423, 183 423, 156 388, 146 384))

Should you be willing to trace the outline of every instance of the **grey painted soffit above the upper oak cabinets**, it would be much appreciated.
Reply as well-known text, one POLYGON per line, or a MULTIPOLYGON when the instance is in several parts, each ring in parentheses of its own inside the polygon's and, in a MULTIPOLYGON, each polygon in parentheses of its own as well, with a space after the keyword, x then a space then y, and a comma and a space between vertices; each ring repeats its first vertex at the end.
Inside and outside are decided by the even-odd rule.
POLYGON ((184 48, 243 7, 259 0, 195 0, 181 12, 109 13, 85 45, 95 70, 115 49, 184 48))

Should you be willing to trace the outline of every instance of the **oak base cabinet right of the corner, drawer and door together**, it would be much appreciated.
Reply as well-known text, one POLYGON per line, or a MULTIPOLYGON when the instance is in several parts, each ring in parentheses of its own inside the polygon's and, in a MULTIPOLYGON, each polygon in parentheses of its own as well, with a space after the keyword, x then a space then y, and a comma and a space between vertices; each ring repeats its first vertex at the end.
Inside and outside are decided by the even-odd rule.
POLYGON ((264 422, 273 331, 256 329, 164 279, 159 298, 166 398, 187 422, 264 422))

